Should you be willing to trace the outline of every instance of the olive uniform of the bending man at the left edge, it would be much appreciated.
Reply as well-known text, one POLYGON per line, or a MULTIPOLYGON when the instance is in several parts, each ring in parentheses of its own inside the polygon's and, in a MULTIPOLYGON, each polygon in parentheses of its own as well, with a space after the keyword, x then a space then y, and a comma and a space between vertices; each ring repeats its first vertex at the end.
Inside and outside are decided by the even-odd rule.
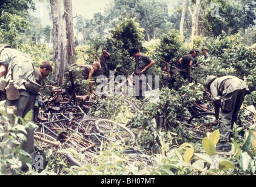
MULTIPOLYGON (((22 66, 22 79, 29 78, 32 81, 35 81, 35 71, 33 67, 33 61, 31 58, 26 56, 26 54, 21 53, 15 49, 4 49, 0 55, 0 64, 5 65, 6 73, 8 70, 9 65, 12 65, 12 76, 6 77, 7 80, 13 79, 13 81, 18 81, 19 79, 19 68, 18 68, 18 59, 21 61, 22 66), (18 56, 20 58, 18 58, 18 56)), ((25 117, 25 115, 30 111, 33 110, 34 102, 36 95, 31 94, 26 91, 24 85, 19 87, 19 99, 14 101, 6 100, 6 107, 7 106, 16 106, 18 112, 15 114, 16 116, 25 117)), ((30 164, 35 164, 35 147, 34 147, 34 134, 33 130, 26 129, 27 134, 25 134, 27 141, 24 142, 22 146, 22 150, 26 151, 31 155, 33 158, 30 164)), ((15 147, 15 144, 6 145, 5 147, 5 154, 10 153, 9 147, 15 147)), ((22 163, 22 168, 26 168, 26 164, 22 163)))

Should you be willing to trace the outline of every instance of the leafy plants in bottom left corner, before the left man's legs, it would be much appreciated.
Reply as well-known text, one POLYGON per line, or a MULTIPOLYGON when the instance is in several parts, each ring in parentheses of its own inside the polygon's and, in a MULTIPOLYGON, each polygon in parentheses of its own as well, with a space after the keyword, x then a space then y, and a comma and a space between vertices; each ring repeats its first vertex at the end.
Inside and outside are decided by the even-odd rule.
POLYGON ((32 111, 24 119, 15 116, 14 124, 9 123, 8 114, 5 112, 5 101, 0 102, 0 174, 5 175, 6 169, 11 166, 13 171, 21 172, 19 161, 29 163, 32 158, 22 150, 22 142, 26 141, 26 129, 34 129, 36 124, 31 122, 32 111), (18 141, 18 140, 21 141, 18 141), (15 146, 13 149, 11 145, 15 146))

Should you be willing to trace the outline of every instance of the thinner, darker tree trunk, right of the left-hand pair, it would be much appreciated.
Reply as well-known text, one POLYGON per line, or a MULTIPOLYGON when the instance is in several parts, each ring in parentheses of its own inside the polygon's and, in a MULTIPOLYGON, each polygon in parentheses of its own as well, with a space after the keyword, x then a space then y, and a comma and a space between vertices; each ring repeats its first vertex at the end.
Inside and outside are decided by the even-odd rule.
POLYGON ((72 0, 64 0, 64 9, 66 12, 66 32, 67 32, 67 56, 69 64, 76 64, 76 53, 74 49, 74 31, 72 16, 72 0))

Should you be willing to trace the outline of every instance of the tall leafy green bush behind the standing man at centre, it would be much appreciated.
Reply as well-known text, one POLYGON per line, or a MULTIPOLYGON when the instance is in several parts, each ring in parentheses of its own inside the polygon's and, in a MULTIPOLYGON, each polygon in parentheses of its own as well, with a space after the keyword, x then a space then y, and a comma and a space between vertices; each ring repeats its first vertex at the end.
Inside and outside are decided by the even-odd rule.
POLYGON ((129 55, 132 47, 138 47, 144 51, 142 39, 144 37, 142 28, 135 18, 120 18, 114 29, 111 30, 111 36, 107 39, 107 49, 111 53, 109 61, 110 70, 115 71, 115 75, 124 75, 128 77, 134 71, 132 65, 133 59, 129 55))

